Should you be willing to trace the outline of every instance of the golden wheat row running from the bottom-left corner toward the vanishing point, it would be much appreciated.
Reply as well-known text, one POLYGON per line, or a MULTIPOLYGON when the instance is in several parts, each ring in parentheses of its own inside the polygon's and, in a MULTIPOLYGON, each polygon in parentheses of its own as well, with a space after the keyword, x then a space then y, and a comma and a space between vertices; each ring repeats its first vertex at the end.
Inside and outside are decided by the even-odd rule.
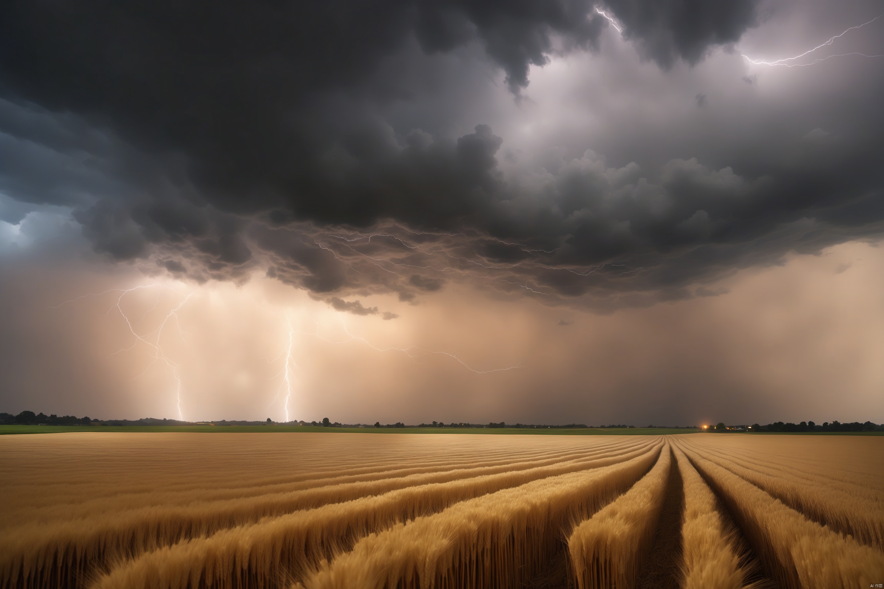
MULTIPOLYGON (((241 436, 243 434, 236 434, 241 436)), ((322 435, 322 434, 319 434, 322 435)), ((340 434, 336 434, 337 437, 340 434)), ((372 436, 377 437, 377 436, 372 436)), ((626 442, 626 445, 636 441, 626 442)), ((484 444, 495 445, 493 442, 484 444)), ((547 445, 541 442, 541 445, 547 445)), ((573 446, 574 444, 560 444, 573 446)), ((566 453, 565 457, 589 456, 606 451, 616 453, 624 442, 595 444, 593 449, 566 453)), ((343 448, 352 452, 347 443, 343 448)), ((476 456, 474 452, 474 456, 476 456)), ((531 454, 531 453, 529 453, 531 454)), ((561 453, 559 460, 561 460, 561 453)), ((538 461, 547 464, 550 460, 538 461)), ((102 517, 58 520, 50 524, 7 528, 0 533, 0 582, 3 585, 25 583, 62 584, 75 582, 99 559, 104 562, 138 555, 181 540, 204 535, 225 527, 255 522, 261 517, 286 513, 331 502, 348 501, 364 495, 376 495, 391 489, 438 481, 461 480, 489 472, 513 472, 531 468, 535 463, 504 464, 479 469, 454 469, 447 472, 370 480, 327 487, 309 488, 290 494, 268 494, 225 502, 200 502, 200 491, 193 492, 189 505, 155 505, 138 510, 114 511, 107 506, 102 517), (19 580, 16 580, 19 579, 19 580)), ((203 467, 205 468, 205 467, 203 467)), ((210 468, 223 470, 220 464, 210 468)), ((394 472, 398 473, 398 472, 394 472)), ((193 474, 193 473, 192 473, 193 474)), ((19 475, 20 476, 20 475, 19 475)), ((101 511, 99 511, 101 513, 101 511)))

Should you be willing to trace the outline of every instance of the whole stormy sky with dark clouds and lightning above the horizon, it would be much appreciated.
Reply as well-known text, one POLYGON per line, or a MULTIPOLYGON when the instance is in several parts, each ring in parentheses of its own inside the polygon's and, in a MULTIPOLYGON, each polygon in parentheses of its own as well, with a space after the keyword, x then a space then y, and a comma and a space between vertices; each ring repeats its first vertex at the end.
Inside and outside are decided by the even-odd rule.
POLYGON ((884 421, 884 8, 0 8, 0 411, 884 421))

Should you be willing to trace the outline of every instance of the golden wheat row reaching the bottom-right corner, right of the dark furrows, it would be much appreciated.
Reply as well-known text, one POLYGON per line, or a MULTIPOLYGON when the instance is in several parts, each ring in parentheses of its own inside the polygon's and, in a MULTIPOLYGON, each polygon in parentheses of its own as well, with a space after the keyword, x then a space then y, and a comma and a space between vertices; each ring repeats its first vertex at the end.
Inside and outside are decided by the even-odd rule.
POLYGON ((685 452, 728 503, 747 539, 786 589, 855 589, 884 578, 884 554, 832 532, 733 472, 685 452))

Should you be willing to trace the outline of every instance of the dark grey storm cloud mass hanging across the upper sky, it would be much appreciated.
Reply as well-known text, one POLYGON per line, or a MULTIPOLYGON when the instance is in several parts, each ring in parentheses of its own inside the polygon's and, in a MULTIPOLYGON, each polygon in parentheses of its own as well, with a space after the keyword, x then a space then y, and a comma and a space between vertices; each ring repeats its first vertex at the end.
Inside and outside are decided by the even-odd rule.
MULTIPOLYGON (((602 7, 664 68, 757 22, 743 0, 602 7)), ((385 119, 420 83, 385 69, 392 57, 487 58, 517 95, 531 65, 597 46, 607 20, 583 0, 2 10, 0 191, 75 208, 96 251, 195 280, 261 267, 316 293, 406 301, 468 280, 607 309, 704 296, 687 287, 882 229, 874 132, 820 130, 780 160, 741 155, 740 173, 587 152, 514 174, 488 125, 447 137, 385 119)))

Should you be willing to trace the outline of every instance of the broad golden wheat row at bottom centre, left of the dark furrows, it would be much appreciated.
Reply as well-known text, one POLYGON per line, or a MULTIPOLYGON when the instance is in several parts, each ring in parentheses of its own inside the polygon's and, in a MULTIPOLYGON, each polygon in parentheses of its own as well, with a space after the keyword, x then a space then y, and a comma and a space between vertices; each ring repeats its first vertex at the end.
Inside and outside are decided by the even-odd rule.
POLYGON ((647 472, 661 446, 621 464, 537 480, 370 534, 297 586, 513 586, 544 565, 568 522, 647 472))

